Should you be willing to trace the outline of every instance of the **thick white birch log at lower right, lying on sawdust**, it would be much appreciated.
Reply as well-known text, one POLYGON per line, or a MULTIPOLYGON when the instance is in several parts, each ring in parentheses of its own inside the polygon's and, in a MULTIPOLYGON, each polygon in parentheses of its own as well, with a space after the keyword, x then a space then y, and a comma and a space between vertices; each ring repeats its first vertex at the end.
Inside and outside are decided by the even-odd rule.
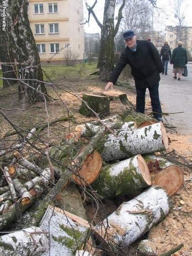
POLYGON ((120 205, 102 224, 96 226, 94 235, 100 241, 104 239, 109 250, 120 244, 129 246, 162 221, 171 207, 171 199, 165 190, 152 186, 120 205))

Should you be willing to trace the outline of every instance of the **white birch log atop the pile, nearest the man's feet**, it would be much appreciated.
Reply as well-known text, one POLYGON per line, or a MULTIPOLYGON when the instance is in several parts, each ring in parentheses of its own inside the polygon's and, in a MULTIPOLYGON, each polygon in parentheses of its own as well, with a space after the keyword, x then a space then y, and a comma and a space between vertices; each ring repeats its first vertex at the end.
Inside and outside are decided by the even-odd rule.
POLYGON ((116 135, 117 137, 107 134, 99 142, 97 150, 105 161, 132 157, 136 154, 149 154, 168 148, 168 137, 162 122, 131 131, 122 128, 116 135))

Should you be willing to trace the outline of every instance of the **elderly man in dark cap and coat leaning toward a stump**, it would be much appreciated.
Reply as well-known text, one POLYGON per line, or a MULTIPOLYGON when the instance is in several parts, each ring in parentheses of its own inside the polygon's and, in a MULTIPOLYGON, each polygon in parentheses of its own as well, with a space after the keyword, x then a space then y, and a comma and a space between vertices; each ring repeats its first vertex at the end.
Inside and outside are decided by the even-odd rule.
POLYGON ((145 112, 145 91, 149 90, 154 117, 163 121, 159 99, 160 74, 164 71, 163 64, 154 44, 147 40, 137 40, 134 32, 128 30, 123 33, 126 47, 122 51, 119 62, 116 64, 105 90, 113 88, 120 73, 126 64, 131 66, 137 92, 136 111, 145 112))

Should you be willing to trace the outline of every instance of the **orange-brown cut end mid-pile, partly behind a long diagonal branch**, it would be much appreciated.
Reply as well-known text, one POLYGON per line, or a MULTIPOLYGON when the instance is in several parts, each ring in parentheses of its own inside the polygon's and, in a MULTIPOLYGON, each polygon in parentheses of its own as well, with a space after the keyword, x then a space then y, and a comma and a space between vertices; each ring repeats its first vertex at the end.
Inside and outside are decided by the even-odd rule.
MULTIPOLYGON (((82 151, 83 149, 81 149, 82 151)), ((81 153, 81 151, 79 153, 81 153)), ((89 154, 84 161, 82 168, 79 170, 78 175, 73 174, 73 180, 80 186, 86 186, 93 183, 99 176, 102 169, 102 158, 101 155, 94 150, 92 154, 89 154)))

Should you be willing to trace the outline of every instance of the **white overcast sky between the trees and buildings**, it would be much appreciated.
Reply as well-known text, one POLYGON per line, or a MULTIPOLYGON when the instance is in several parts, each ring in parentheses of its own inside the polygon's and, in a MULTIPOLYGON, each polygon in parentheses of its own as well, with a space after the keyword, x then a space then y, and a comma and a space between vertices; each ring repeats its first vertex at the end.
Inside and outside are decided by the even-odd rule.
MULTIPOLYGON (((87 3, 92 6, 95 0, 87 0, 87 3)), ((105 0, 97 0, 94 11, 99 21, 102 23, 103 21, 103 11, 104 11, 104 3, 105 0)), ((163 31, 166 26, 175 26, 174 15, 172 14, 175 0, 157 0, 157 6, 162 8, 159 11, 160 17, 154 18, 154 29, 158 31, 163 31), (163 12, 164 11, 164 12, 163 12), (156 23, 156 24, 155 24, 156 23)), ((192 26, 192 0, 185 0, 183 6, 186 6, 185 9, 185 25, 192 26)), ((84 6, 84 19, 87 18, 87 10, 84 6)), ((90 15, 90 23, 84 25, 84 30, 86 33, 100 33, 101 29, 93 19, 92 15, 90 15)))

